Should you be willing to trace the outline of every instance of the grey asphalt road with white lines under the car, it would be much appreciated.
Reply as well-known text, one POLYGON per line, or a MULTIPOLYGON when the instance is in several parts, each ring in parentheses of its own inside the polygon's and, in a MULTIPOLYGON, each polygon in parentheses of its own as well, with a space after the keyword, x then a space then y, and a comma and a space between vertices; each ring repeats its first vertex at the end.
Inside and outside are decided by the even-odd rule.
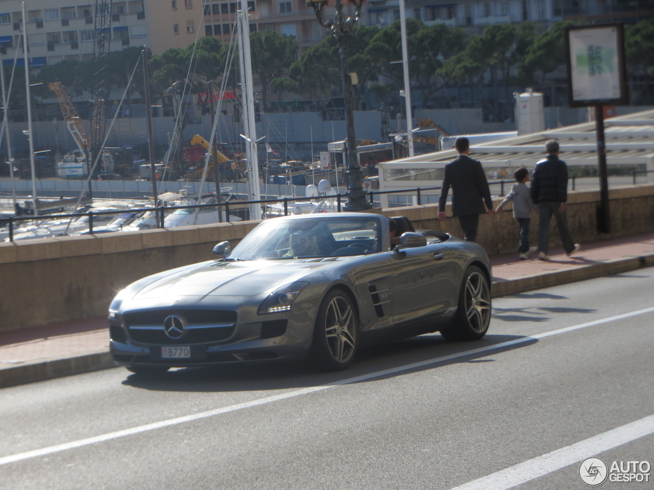
MULTIPOLYGON (((480 342, 425 335, 337 374, 110 369, 5 388, 1 487, 585 489, 587 457, 654 464, 653 290, 640 269, 496 299, 480 342)), ((600 489, 651 489, 649 473, 600 489)))

